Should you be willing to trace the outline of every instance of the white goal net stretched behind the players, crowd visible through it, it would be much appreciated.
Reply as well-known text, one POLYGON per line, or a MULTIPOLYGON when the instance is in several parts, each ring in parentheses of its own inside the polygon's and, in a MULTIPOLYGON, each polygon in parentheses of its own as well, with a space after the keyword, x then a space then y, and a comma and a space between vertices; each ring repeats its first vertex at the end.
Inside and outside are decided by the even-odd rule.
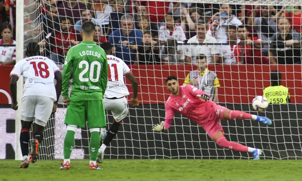
MULTIPOLYGON (((24 32, 16 30, 24 34, 24 46, 31 41, 39 42, 41 53, 63 69, 68 49, 81 41, 77 31, 81 23, 78 21, 81 17, 85 20, 91 13, 93 22, 99 27, 95 41, 114 44, 115 55, 129 64, 139 83, 140 106, 129 105, 129 114, 106 149, 105 159, 252 158, 249 153, 219 147, 201 126, 178 113, 168 131, 151 131, 152 126, 165 117, 164 103, 170 94, 165 78, 175 75, 179 84, 183 84, 189 72, 199 66, 196 64, 199 54, 207 57, 207 69, 218 76, 220 86, 217 87, 215 81, 216 85, 212 82, 209 87, 213 89, 211 94, 215 94, 217 87, 217 97, 213 98, 219 105, 266 116, 273 122, 266 126, 251 120, 221 120, 227 140, 260 148, 265 159, 302 158, 302 16, 299 6, 302 1, 218 0, 212 4, 213 1, 208 0, 191 0, 141 1, 139 4, 135 1, 100 3, 86 0, 75 6, 71 0, 54 1, 57 4, 49 2, 53 1, 24 0, 24 32), (83 9, 90 11, 83 12, 83 9), (115 11, 119 12, 113 13, 115 11), (133 18, 133 25, 121 24, 120 18, 125 12, 133 18), (127 28, 132 29, 131 26, 137 31, 123 34, 127 28), (196 38, 199 31, 201 37, 207 39, 199 41, 196 38), (287 45, 277 35, 274 37, 275 32, 285 32, 278 34, 281 38, 287 34, 287 45), (139 65, 135 65, 137 60, 139 65), (264 88, 271 85, 270 72, 273 70, 281 73, 280 81, 288 87, 291 103, 280 104, 272 100, 275 104, 269 104, 263 112, 256 112, 251 101, 256 95, 263 95, 264 88)), ((17 20, 17 23, 22 22, 17 20)), ((187 83, 192 79, 197 78, 190 78, 187 83)), ((215 76, 208 80, 214 81, 215 76)), ((130 100, 131 84, 129 81, 126 84, 130 91, 127 99, 130 100)), ((39 159, 63 159, 66 110, 61 102, 47 123, 39 159)), ((108 130, 112 116, 110 111, 106 115, 108 130)), ((71 159, 89 158, 89 138, 87 126, 77 130, 71 159)), ((19 138, 16 136, 16 139, 19 138)))

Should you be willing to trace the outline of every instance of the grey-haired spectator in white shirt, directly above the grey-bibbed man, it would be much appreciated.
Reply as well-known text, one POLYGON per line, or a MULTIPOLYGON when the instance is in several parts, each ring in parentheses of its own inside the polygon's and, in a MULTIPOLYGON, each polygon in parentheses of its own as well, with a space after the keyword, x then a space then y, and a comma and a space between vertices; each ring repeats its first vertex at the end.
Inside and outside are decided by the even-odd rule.
MULTIPOLYGON (((206 34, 208 24, 204 20, 198 20, 196 24, 197 35, 190 38, 187 43, 217 43, 214 37, 206 34)), ((219 49, 215 45, 187 45, 185 49, 185 62, 196 63, 196 56, 200 53, 207 56, 207 63, 219 63, 219 49)))

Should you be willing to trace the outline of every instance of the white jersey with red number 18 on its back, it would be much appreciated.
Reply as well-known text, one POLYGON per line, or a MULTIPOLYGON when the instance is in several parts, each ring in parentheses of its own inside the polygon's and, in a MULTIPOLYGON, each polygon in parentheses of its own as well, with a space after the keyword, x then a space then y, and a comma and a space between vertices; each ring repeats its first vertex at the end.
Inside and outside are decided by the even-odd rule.
POLYGON ((45 96, 56 101, 53 83, 56 71, 59 71, 59 68, 52 60, 44 56, 32 56, 20 60, 10 75, 24 77, 23 97, 45 96))

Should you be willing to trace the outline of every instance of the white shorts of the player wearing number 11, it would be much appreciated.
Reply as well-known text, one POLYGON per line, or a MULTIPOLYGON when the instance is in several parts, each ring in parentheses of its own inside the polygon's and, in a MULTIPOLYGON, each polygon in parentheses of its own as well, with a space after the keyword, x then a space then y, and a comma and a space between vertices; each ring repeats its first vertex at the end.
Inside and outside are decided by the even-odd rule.
POLYGON ((108 99, 104 97, 104 109, 111 111, 115 122, 120 122, 128 114, 126 97, 120 99, 108 99))

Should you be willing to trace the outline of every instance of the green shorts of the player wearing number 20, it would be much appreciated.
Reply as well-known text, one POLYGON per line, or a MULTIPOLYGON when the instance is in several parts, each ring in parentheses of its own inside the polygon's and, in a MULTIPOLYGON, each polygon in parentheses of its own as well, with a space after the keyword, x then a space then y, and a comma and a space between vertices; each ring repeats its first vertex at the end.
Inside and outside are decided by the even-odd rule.
POLYGON ((65 124, 85 128, 106 127, 103 100, 69 100, 65 116, 65 124))

